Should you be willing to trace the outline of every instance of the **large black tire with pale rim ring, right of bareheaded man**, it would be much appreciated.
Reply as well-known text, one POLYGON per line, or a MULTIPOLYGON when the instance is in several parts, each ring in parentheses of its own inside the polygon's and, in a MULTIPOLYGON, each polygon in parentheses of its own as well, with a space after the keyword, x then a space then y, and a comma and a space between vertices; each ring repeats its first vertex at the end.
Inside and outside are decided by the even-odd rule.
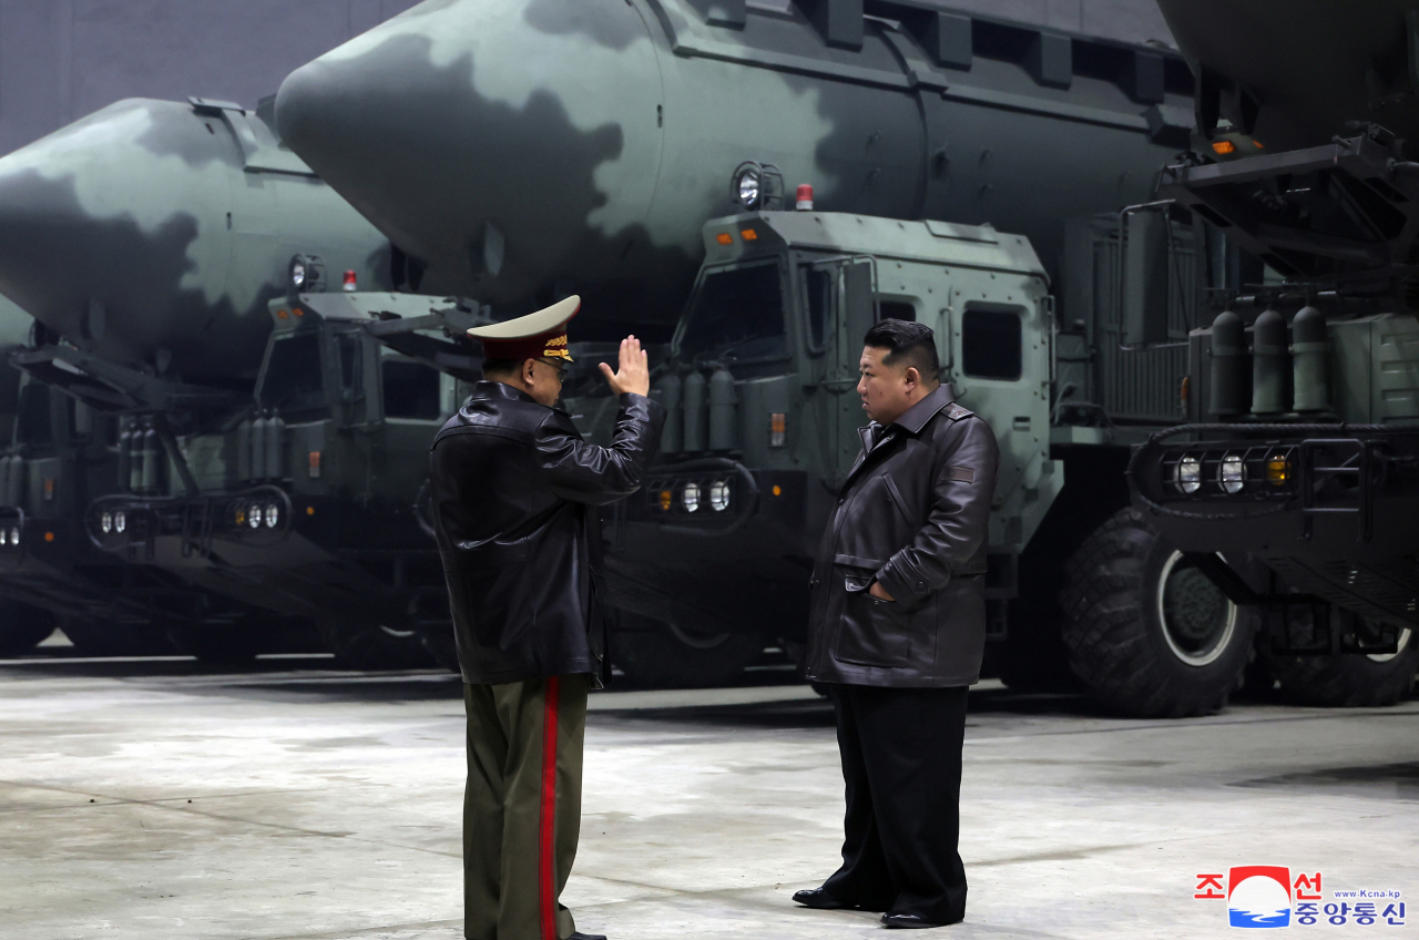
POLYGON ((1087 692, 1124 714, 1182 718, 1226 706, 1252 655, 1237 609, 1134 508, 1066 562, 1061 635, 1087 692))

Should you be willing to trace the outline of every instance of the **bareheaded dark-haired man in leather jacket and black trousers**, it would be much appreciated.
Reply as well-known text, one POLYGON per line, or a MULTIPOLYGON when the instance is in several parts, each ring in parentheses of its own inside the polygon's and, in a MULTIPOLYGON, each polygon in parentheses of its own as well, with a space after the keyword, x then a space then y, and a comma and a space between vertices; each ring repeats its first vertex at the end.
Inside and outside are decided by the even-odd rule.
POLYGON ((937 927, 965 917, 961 747, 999 449, 939 382, 929 327, 884 319, 864 345, 871 423, 819 548, 807 643, 807 676, 837 711, 843 866, 793 899, 937 927))

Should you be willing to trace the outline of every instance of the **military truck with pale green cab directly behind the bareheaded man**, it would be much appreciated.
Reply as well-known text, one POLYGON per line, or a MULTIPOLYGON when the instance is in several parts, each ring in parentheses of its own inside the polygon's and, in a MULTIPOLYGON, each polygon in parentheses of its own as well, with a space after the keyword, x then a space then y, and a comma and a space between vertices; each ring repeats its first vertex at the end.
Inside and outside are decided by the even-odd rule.
MULTIPOLYGON (((1171 263, 1191 278, 1191 233, 1175 236, 1171 263)), ((813 209, 708 222, 705 263, 653 383, 671 415, 661 460, 644 493, 606 518, 620 665, 715 682, 765 645, 802 649, 812 558, 861 449, 861 337, 895 317, 932 327, 942 381, 1000 442, 988 674, 1060 687, 1070 660, 1091 693, 1124 711, 1219 707, 1247 663, 1250 632, 1229 635, 1215 669, 1159 638, 1131 674, 1148 694, 1134 697, 1100 679, 1117 650, 1100 645, 1095 663, 1066 649, 1078 632, 1071 592, 1081 576, 1112 571, 1091 545, 1127 507, 1128 446, 1181 420, 1185 365, 1176 348, 1120 348, 1139 298, 1118 291, 1117 219, 1076 220, 1067 239, 1073 290, 1060 291, 1070 302, 1060 329, 1030 243, 990 226, 813 209)), ((1189 300, 1165 298, 1175 331, 1185 332, 1189 300)), ((606 433, 609 399, 568 406, 606 433)), ((1186 638, 1212 629, 1216 612, 1196 603, 1208 589, 1175 567, 1118 591, 1117 602, 1159 605, 1164 636, 1186 638)))

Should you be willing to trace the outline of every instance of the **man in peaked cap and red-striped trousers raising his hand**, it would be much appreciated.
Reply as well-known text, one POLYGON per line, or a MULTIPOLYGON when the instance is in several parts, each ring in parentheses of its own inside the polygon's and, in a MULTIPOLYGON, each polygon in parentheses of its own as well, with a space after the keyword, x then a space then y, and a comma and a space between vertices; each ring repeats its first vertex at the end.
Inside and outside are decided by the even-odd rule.
POLYGON ((609 674, 595 507, 640 487, 664 409, 647 398, 646 354, 629 337, 620 369, 600 366, 620 396, 612 446, 582 440, 555 408, 578 305, 470 329, 487 381, 430 452, 468 714, 468 940, 589 937, 558 899, 580 828, 586 692, 609 674))

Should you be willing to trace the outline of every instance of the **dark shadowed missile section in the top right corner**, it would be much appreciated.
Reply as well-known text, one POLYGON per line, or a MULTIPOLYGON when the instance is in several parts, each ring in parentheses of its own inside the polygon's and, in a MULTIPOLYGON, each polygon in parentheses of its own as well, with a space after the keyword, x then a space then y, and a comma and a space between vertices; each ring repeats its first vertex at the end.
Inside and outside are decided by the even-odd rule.
POLYGON ((1419 141, 1413 0, 1158 0, 1158 7, 1198 65, 1203 133, 1225 118, 1274 152, 1352 136, 1347 124, 1362 121, 1419 141))

